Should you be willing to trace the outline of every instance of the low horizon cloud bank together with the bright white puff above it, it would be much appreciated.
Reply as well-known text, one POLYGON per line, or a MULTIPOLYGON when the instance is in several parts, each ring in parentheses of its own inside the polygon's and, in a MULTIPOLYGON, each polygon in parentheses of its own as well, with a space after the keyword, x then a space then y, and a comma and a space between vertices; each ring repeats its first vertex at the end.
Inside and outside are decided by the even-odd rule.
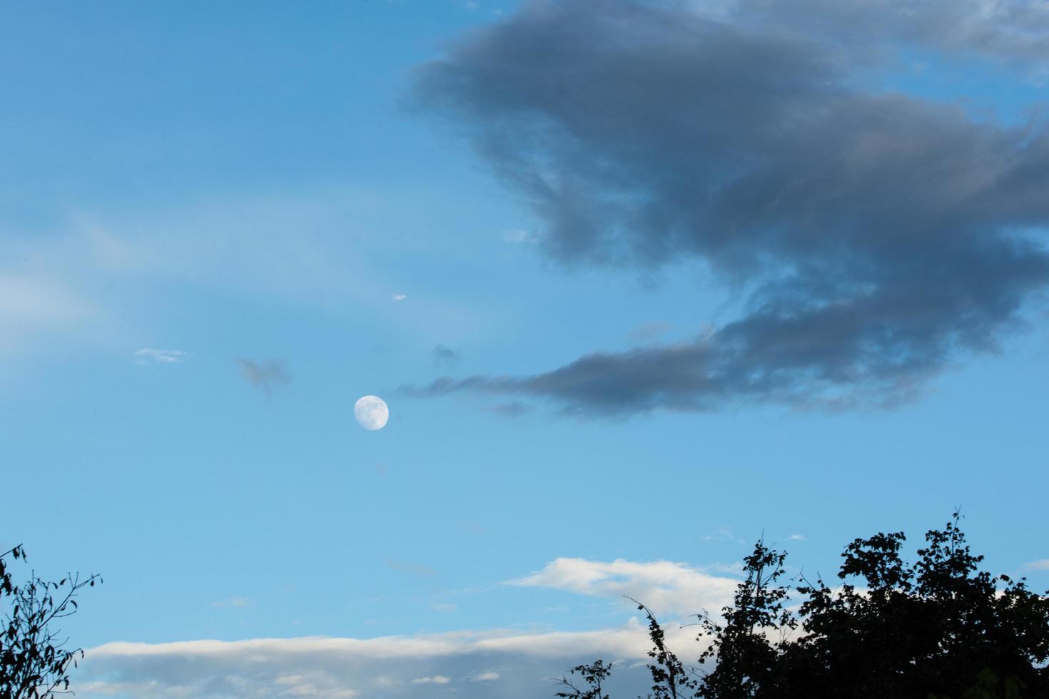
MULTIPOLYGON (((613 604, 621 602, 622 595, 643 600, 661 614, 668 642, 681 650, 684 659, 698 657, 702 646, 695 642, 694 629, 678 620, 703 607, 716 612, 731 600, 738 582, 669 561, 562 558, 508 584, 562 590, 613 604)), ((232 599, 250 608, 240 598, 232 599)), ((468 699, 523 699, 552 695, 555 678, 569 668, 602 658, 618 663, 617 692, 630 696, 650 683, 644 668, 648 648, 647 629, 637 616, 619 627, 592 631, 494 629, 377 638, 111 642, 87 651, 73 689, 87 699, 414 699, 434 692, 468 699)))

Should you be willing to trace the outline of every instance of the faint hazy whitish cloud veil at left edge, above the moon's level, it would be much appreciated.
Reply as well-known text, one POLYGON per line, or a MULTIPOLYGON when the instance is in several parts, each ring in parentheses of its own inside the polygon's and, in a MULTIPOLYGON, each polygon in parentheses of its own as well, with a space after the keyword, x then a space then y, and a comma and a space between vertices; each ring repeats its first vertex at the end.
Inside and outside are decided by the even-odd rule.
POLYGON ((378 312, 386 299, 374 289, 388 272, 347 244, 344 217, 344 206, 373 201, 371 193, 312 188, 134 215, 81 210, 45 235, 0 220, 0 353, 123 353, 144 328, 165 323, 166 301, 187 285, 378 312))

